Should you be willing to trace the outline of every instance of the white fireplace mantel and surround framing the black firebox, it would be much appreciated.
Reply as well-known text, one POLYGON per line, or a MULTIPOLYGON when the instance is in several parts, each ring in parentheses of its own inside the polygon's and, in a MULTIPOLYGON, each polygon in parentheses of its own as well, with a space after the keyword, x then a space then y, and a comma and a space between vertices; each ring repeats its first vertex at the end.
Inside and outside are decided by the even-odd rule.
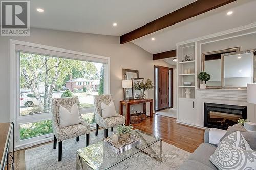
POLYGON ((196 89, 197 126, 204 126, 204 103, 247 106, 247 119, 256 122, 256 108, 247 102, 246 89, 196 89))

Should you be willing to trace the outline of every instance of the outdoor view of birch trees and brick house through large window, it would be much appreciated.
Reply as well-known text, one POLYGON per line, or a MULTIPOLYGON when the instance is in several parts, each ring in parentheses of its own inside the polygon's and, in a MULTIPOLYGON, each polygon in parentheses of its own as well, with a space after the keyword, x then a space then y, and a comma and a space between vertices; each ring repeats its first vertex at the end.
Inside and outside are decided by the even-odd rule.
MULTIPOLYGON (((93 107, 93 95, 103 94, 104 64, 19 53, 20 116, 51 112, 51 99, 78 96, 80 108, 93 107)), ((93 113, 82 115, 95 123, 93 113)), ((51 120, 20 125, 20 139, 52 133, 51 120), (33 127, 33 128, 32 128, 33 127)))

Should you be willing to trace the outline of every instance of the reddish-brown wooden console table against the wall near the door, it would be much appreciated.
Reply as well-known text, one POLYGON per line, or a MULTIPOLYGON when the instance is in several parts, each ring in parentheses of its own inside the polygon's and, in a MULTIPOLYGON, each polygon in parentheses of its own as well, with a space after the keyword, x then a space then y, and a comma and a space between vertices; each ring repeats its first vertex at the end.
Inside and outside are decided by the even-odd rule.
POLYGON ((130 124, 130 106, 131 105, 137 105, 140 103, 143 103, 143 112, 146 113, 146 103, 150 102, 150 118, 153 118, 153 99, 136 99, 136 100, 129 100, 129 101, 125 101, 122 100, 120 101, 120 114, 123 115, 123 106, 125 106, 126 109, 126 114, 125 114, 125 125, 129 125, 130 124))

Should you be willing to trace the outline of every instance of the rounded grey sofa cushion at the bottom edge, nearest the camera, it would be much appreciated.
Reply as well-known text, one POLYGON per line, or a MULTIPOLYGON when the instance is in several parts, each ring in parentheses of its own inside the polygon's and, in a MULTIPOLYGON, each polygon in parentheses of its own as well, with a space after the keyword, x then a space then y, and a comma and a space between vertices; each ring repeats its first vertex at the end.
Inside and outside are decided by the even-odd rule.
MULTIPOLYGON (((198 162, 196 160, 188 160, 184 164, 182 164, 179 170, 212 170, 209 166, 198 162)), ((214 168, 216 169, 216 168, 214 168)))

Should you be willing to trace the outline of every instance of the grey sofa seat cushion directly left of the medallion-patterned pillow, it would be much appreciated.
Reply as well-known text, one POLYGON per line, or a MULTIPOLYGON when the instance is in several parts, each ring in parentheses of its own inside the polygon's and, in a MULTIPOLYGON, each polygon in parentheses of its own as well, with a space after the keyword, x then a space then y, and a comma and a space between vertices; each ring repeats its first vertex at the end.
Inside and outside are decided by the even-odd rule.
POLYGON ((201 162, 211 169, 217 169, 214 164, 209 160, 210 156, 214 153, 217 147, 209 143, 202 143, 200 146, 191 154, 188 160, 196 160, 201 162))

